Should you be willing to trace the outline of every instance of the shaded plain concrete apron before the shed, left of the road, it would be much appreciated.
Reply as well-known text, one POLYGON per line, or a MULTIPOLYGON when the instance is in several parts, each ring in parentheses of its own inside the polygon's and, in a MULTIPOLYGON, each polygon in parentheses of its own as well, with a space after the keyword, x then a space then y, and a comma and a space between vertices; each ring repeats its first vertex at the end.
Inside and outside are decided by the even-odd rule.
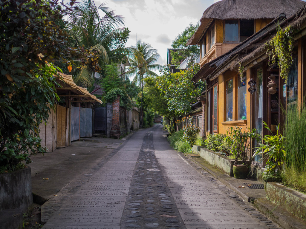
POLYGON ((122 139, 81 138, 65 148, 32 156, 33 202, 42 205, 96 163, 121 148, 133 133, 122 139))

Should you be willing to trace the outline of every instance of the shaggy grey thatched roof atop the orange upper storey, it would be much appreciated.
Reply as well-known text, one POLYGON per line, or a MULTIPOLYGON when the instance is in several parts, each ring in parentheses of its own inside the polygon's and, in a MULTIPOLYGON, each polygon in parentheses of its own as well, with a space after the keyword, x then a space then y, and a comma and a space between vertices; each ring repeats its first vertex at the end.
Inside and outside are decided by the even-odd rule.
POLYGON ((211 23, 211 20, 220 19, 274 19, 280 13, 287 17, 297 12, 306 2, 301 0, 222 0, 208 7, 202 18, 200 26, 187 42, 187 45, 199 43, 203 32, 211 23))

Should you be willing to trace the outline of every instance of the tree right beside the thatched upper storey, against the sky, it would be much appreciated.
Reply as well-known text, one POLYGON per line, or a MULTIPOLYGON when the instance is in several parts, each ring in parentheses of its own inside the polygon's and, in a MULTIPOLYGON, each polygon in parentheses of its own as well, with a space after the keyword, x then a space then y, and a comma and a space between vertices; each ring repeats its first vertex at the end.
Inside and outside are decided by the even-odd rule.
POLYGON ((186 45, 199 25, 199 23, 196 25, 190 24, 189 27, 186 27, 186 29, 172 41, 172 48, 179 50, 175 52, 171 51, 171 64, 178 66, 181 64, 182 60, 186 59, 187 66, 190 66, 200 56, 200 48, 198 45, 186 45))

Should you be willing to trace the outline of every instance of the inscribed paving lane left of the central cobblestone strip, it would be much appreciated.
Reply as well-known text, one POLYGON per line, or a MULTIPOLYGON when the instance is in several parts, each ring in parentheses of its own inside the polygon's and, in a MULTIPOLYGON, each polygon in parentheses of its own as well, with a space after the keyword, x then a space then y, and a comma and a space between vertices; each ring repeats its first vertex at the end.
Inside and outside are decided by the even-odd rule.
POLYGON ((101 160, 91 173, 80 176, 43 206, 42 214, 49 219, 43 229, 120 229, 146 131, 136 132, 118 152, 101 160))

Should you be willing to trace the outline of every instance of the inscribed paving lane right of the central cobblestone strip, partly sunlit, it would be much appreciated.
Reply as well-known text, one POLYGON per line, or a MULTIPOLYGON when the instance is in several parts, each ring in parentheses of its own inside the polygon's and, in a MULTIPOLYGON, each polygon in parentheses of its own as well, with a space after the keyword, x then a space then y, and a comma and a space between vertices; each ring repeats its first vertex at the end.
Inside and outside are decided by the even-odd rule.
POLYGON ((199 166, 190 166, 154 132, 157 161, 187 229, 279 229, 199 166))

